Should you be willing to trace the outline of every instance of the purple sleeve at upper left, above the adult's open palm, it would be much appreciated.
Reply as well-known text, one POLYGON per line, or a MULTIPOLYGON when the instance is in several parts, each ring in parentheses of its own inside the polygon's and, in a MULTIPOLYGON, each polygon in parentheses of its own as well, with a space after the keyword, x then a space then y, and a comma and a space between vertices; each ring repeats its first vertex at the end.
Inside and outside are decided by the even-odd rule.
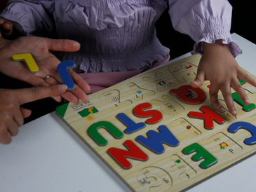
POLYGON ((53 0, 9 0, 0 17, 15 22, 14 27, 22 34, 51 32, 54 11, 53 0))

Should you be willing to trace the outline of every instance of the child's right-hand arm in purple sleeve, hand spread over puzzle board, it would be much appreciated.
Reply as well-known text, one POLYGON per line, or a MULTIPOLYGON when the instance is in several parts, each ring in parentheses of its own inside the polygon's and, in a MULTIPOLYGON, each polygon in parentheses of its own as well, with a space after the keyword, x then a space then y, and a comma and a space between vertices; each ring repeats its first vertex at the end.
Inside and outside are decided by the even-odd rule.
POLYGON ((169 0, 169 14, 173 27, 191 36, 196 44, 194 53, 202 53, 196 80, 191 85, 198 87, 210 80, 210 100, 213 107, 220 107, 217 93, 221 90, 231 114, 236 115, 231 88, 248 104, 248 97, 237 78, 256 86, 238 66, 234 57, 241 49, 231 40, 232 7, 226 0, 169 0))

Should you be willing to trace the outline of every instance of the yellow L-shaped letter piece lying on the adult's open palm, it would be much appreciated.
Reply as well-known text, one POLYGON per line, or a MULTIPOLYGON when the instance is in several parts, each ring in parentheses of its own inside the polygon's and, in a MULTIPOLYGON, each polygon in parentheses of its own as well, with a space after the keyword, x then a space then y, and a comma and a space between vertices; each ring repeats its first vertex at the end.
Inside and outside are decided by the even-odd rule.
POLYGON ((34 60, 34 57, 31 55, 31 53, 15 54, 12 56, 12 58, 15 61, 24 61, 27 64, 29 71, 32 71, 32 72, 39 71, 39 67, 36 64, 36 61, 34 60))

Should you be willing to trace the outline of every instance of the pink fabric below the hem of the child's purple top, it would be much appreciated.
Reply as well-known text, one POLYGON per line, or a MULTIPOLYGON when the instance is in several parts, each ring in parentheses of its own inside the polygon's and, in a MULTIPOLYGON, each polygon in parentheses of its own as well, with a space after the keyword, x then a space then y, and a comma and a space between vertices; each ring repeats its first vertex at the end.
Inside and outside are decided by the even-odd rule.
MULTIPOLYGON (((170 56, 168 55, 161 62, 154 62, 152 68, 157 67, 165 62, 170 60, 170 56)), ((108 88, 111 85, 119 83, 121 81, 126 80, 127 78, 133 77, 137 74, 140 74, 142 71, 147 71, 147 69, 137 69, 133 71, 118 71, 118 72, 101 72, 101 73, 83 73, 79 74, 84 80, 87 81, 90 85, 90 90, 92 92, 96 92, 98 90, 102 90, 104 88, 108 88)))

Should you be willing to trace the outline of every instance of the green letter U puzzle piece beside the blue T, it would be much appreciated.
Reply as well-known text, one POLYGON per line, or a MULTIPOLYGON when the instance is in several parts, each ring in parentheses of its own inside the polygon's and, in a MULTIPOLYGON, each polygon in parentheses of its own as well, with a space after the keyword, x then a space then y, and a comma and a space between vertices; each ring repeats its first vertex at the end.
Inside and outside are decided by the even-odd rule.
POLYGON ((98 129, 100 128, 104 128, 105 130, 107 130, 116 139, 123 138, 123 132, 116 128, 115 125, 108 121, 98 121, 96 123, 93 123, 93 125, 90 125, 87 133, 90 138, 92 138, 99 146, 106 146, 108 143, 107 140, 102 137, 102 135, 100 135, 100 133, 98 132, 98 129))

